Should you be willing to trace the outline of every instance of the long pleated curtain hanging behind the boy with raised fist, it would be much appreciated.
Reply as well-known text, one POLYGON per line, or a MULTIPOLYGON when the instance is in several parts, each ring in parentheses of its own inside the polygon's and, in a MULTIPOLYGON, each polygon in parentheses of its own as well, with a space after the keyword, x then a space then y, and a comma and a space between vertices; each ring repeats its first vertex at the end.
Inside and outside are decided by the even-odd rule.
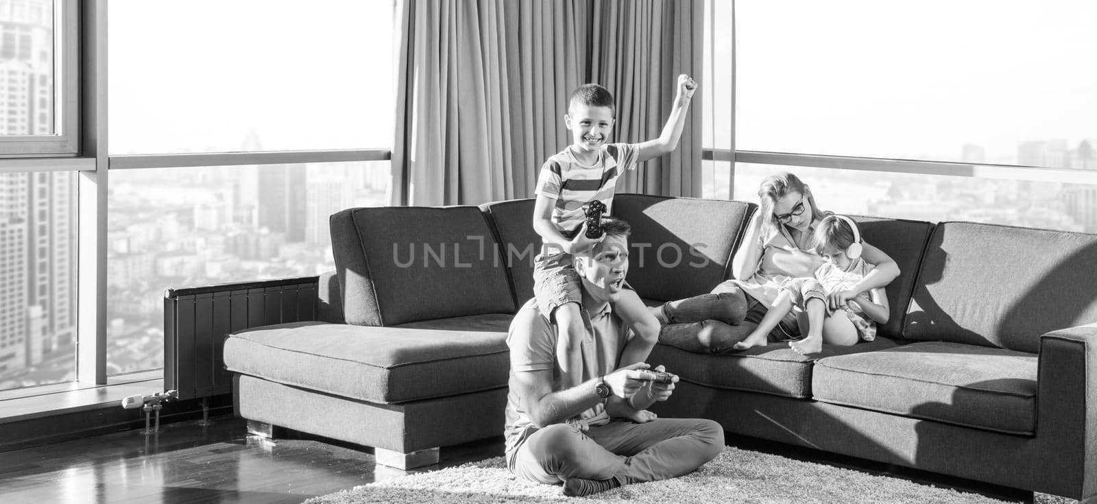
MULTIPOLYGON (((399 0, 389 202, 530 198, 569 143, 567 94, 598 82, 618 101, 619 142, 658 136, 675 78, 701 80, 703 0, 399 0)), ((619 191, 699 195, 701 93, 678 150, 619 191)))

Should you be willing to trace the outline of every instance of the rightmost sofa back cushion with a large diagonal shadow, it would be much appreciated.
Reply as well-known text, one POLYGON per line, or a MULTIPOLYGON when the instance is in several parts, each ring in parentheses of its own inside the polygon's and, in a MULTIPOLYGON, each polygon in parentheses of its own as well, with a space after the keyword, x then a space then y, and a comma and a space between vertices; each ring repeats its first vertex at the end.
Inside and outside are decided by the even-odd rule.
POLYGON ((1097 322, 1097 235, 946 222, 929 238, 904 337, 1039 350, 1097 322))

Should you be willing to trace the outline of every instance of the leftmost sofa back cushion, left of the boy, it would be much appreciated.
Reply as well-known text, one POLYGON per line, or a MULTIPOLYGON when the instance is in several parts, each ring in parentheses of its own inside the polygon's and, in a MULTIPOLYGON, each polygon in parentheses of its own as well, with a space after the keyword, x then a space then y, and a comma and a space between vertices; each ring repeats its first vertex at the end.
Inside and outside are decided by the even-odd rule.
POLYGON ((331 215, 343 317, 353 325, 514 313, 498 244, 477 206, 348 209, 331 215))

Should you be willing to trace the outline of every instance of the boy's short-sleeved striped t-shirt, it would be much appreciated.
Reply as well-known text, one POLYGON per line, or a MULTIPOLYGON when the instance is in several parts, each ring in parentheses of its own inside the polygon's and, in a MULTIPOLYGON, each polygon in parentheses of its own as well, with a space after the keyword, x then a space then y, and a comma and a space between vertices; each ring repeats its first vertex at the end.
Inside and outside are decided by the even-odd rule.
POLYGON ((598 149, 598 160, 589 167, 579 165, 570 148, 545 161, 534 192, 556 200, 552 223, 557 231, 570 236, 586 220, 583 206, 595 200, 606 204, 607 215, 612 214, 617 179, 624 170, 636 168, 636 144, 603 145, 598 149))

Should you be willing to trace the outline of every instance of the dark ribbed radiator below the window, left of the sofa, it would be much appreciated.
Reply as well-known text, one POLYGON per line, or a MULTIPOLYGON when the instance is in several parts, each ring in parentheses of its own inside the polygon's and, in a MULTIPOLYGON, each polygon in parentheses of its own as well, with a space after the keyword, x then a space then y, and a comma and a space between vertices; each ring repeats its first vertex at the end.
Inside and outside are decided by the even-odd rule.
POLYGON ((315 321, 318 277, 168 289, 163 295, 163 384, 179 399, 233 392, 225 337, 238 331, 315 321))

